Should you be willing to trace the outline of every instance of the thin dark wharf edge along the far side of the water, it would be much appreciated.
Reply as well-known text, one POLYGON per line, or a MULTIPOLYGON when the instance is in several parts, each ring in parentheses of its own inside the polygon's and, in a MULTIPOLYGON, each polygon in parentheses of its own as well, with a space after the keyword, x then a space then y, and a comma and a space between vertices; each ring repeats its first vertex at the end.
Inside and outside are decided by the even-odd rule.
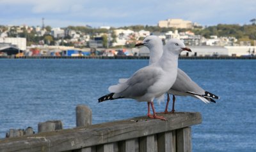
MULTIPOLYGON (((105 57, 101 55, 96 56, 83 56, 83 57, 68 57, 68 56, 61 56, 61 57, 54 57, 54 56, 24 56, 24 57, 12 57, 12 56, 5 56, 0 57, 0 59, 149 59, 149 57, 143 56, 115 56, 115 57, 105 57)), ((184 60, 253 60, 256 59, 256 56, 245 56, 245 57, 182 57, 180 56, 179 59, 184 60)))

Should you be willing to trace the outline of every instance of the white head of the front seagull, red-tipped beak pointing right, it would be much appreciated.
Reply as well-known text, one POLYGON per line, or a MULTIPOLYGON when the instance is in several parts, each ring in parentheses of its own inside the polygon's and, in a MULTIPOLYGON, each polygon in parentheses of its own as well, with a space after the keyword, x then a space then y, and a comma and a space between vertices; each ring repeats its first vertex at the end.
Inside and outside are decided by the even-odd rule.
POLYGON ((170 39, 169 41, 167 41, 165 49, 178 55, 182 51, 191 52, 190 48, 187 48, 184 45, 183 41, 181 41, 180 39, 170 39))

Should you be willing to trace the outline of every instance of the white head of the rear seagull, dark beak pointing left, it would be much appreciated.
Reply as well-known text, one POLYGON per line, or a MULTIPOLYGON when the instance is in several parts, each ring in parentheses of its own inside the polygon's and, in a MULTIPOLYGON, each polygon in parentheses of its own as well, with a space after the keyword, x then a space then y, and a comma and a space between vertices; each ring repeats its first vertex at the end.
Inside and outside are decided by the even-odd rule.
POLYGON ((148 49, 154 46, 163 46, 162 40, 158 36, 147 36, 142 43, 137 43, 135 46, 146 46, 148 49))

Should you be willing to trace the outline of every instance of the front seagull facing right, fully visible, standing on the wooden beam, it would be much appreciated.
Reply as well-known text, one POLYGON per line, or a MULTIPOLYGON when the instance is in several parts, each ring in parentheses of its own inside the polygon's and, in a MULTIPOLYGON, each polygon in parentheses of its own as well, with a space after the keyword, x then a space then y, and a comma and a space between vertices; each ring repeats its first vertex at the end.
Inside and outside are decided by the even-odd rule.
POLYGON ((111 93, 100 97, 98 101, 125 98, 147 102, 148 118, 166 120, 163 116, 156 115, 154 99, 163 97, 174 84, 179 54, 182 51, 191 52, 180 39, 170 39, 164 47, 163 55, 154 64, 139 69, 128 79, 119 79, 117 85, 109 86, 111 93), (150 114, 150 106, 153 116, 150 114))

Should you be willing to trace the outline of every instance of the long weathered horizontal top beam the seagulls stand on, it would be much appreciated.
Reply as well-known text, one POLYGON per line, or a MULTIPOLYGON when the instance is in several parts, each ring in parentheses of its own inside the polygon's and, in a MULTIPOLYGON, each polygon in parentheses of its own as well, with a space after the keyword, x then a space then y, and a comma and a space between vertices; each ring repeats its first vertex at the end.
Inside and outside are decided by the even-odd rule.
MULTIPOLYGON (((161 114, 162 115, 162 114, 161 114)), ((200 113, 163 114, 167 121, 147 116, 0 140, 0 151, 68 151, 125 141, 201 123, 200 113)))

